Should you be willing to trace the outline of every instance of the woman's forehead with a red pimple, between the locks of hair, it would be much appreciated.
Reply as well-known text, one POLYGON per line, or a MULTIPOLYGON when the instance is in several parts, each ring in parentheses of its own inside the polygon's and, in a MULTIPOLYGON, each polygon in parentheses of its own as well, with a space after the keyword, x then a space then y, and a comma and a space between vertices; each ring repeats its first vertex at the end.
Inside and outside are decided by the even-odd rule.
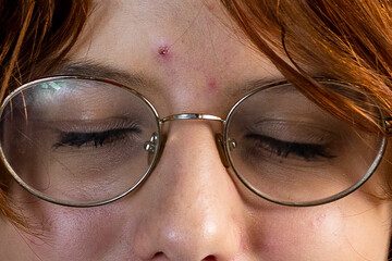
POLYGON ((240 96, 248 82, 282 78, 238 34, 219 1, 108 0, 94 5, 71 60, 142 75, 168 96, 181 94, 186 103, 205 89, 240 96))

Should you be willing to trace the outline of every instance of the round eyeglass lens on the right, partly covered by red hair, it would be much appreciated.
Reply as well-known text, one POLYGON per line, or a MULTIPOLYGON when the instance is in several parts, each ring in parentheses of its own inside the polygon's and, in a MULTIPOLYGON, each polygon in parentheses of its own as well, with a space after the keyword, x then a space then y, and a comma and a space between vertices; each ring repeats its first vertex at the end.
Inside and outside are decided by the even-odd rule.
MULTIPOLYGON (((379 108, 364 94, 322 83, 382 124, 379 108)), ((257 195, 282 204, 310 206, 341 198, 373 172, 384 147, 381 132, 359 127, 320 109, 293 85, 266 87, 243 98, 225 128, 229 159, 257 195)))

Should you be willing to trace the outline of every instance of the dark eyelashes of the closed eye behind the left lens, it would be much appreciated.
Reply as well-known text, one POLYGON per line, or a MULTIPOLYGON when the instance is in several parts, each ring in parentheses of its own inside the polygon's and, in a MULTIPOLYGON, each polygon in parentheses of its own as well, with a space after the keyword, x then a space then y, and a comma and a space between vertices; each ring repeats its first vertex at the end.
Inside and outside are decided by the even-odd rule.
POLYGON ((81 148, 83 145, 91 145, 96 148, 102 147, 103 144, 113 144, 117 140, 124 139, 128 133, 139 134, 139 128, 114 128, 100 133, 61 133, 60 141, 53 145, 53 148, 59 147, 77 147, 81 148))

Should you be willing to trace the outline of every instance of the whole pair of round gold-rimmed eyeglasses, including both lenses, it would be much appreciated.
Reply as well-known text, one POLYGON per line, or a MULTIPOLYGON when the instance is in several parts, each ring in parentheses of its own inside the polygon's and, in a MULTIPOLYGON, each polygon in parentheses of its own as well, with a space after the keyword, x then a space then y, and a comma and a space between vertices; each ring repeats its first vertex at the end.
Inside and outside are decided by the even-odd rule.
MULTIPOLYGON (((334 80, 318 82, 387 129, 368 96, 334 80)), ((223 120, 197 113, 160 117, 126 86, 57 76, 23 85, 4 99, 1 159, 22 187, 44 200, 100 206, 146 179, 163 152, 163 125, 179 120, 220 122, 217 146, 229 172, 259 197, 284 206, 322 204, 351 194, 375 172, 387 144, 381 132, 332 116, 289 82, 252 91, 223 120)))

